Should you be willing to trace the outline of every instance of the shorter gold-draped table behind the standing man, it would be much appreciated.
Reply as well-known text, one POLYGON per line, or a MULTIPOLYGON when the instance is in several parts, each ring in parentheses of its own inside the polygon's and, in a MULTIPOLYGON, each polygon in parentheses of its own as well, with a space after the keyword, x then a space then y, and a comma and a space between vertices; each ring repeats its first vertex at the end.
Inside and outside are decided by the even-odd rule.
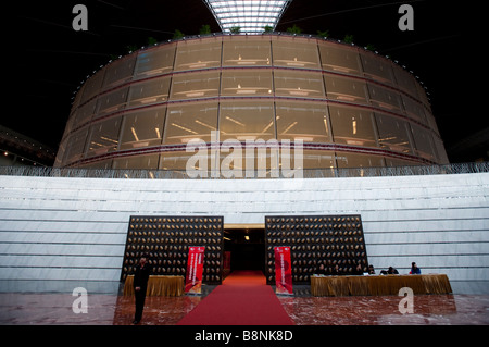
MULTIPOLYGON (((124 296, 134 295, 134 275, 126 277, 124 296)), ((155 276, 148 280, 147 296, 181 296, 184 295, 184 276, 155 276)))

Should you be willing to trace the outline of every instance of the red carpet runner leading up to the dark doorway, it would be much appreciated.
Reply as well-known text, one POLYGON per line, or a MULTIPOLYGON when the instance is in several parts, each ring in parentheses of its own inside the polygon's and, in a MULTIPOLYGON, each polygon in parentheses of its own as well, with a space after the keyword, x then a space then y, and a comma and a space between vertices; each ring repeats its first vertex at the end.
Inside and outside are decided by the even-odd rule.
POLYGON ((293 325, 261 271, 234 271, 178 325, 293 325))

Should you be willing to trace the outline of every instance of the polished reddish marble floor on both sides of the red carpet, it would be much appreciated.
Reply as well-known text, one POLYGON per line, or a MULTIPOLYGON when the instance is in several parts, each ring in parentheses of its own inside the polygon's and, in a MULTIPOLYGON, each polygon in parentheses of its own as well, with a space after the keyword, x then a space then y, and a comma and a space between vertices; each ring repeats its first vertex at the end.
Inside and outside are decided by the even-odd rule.
MULTIPOLYGON (((148 297, 142 325, 175 325, 202 296, 148 297)), ((134 298, 88 295, 87 313, 74 313, 71 294, 0 294, 1 325, 126 325, 134 317, 134 298)), ((293 297, 278 296, 297 325, 488 325, 489 296, 416 295, 413 313, 399 311, 401 297, 312 297, 297 289, 293 297)), ((75 305, 76 306, 76 305, 75 305)), ((78 306, 77 306, 78 307, 78 306)))

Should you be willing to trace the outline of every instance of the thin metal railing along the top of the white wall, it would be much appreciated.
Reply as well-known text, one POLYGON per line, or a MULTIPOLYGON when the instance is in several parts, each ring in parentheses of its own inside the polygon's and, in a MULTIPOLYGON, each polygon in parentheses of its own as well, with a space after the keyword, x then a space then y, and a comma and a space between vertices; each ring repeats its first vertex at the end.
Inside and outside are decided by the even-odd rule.
MULTIPOLYGON (((136 170, 136 169, 63 169, 50 166, 0 166, 0 176, 30 177, 77 177, 77 178, 133 178, 133 179, 256 179, 256 178, 335 178, 335 177, 385 177, 413 175, 443 175, 489 172, 489 162, 455 163, 446 165, 418 165, 392 168, 327 168, 303 169, 300 175, 284 174, 281 171, 236 172, 206 171, 192 177, 185 170, 136 170)), ((193 172, 195 174, 196 172, 193 172)))

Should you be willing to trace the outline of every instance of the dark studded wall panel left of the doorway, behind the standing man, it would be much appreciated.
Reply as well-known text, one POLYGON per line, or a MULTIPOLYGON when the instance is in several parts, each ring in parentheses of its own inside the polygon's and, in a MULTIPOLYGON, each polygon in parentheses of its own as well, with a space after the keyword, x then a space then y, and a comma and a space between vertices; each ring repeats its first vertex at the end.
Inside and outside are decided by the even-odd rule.
POLYGON ((223 281, 222 216, 130 216, 121 281, 134 273, 142 253, 149 255, 153 275, 181 275, 188 248, 204 246, 203 282, 223 281))

